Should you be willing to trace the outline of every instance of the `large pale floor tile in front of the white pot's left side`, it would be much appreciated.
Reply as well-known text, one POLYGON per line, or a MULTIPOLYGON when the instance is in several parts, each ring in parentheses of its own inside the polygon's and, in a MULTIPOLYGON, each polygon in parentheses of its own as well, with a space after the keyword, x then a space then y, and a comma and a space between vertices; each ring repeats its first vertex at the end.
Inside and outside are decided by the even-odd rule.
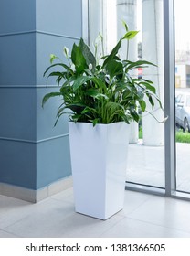
POLYGON ((115 215, 107 221, 75 213, 73 206, 58 202, 58 207, 41 210, 6 228, 21 237, 100 237, 122 219, 115 215), (46 212, 47 211, 47 212, 46 212))

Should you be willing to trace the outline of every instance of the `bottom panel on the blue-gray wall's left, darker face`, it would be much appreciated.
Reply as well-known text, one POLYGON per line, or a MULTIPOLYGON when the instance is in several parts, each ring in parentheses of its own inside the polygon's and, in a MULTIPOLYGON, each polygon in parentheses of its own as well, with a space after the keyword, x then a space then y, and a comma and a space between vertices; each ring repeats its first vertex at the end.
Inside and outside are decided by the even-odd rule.
POLYGON ((36 144, 22 141, 0 140, 0 182, 36 189, 36 144))

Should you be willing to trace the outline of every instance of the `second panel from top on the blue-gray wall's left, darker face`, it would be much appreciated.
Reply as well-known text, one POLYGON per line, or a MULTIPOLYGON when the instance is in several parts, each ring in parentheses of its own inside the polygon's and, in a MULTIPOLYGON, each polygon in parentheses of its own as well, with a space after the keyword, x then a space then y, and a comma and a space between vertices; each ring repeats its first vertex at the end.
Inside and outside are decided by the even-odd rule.
POLYGON ((32 32, 1 36, 0 49, 1 85, 34 86, 36 84, 36 34, 32 32))

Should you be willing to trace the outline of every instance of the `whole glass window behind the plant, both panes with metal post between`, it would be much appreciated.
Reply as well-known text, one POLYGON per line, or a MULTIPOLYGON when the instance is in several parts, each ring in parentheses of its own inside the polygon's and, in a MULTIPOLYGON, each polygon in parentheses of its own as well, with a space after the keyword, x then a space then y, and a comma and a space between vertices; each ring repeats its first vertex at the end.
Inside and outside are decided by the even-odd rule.
POLYGON ((109 51, 124 33, 124 20, 140 31, 130 46, 130 59, 157 65, 134 75, 153 80, 169 119, 162 123, 164 112, 155 105, 153 110, 148 106, 139 123, 131 124, 126 180, 129 187, 162 188, 167 196, 190 193, 189 7, 185 0, 89 1, 90 44, 100 32, 109 51))

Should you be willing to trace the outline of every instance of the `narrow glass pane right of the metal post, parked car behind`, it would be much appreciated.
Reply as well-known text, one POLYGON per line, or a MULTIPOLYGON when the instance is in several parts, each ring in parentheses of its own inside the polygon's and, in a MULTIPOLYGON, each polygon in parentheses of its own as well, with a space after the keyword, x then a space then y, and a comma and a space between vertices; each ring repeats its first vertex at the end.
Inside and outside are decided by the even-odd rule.
POLYGON ((174 1, 176 190, 190 192, 190 2, 174 1))

